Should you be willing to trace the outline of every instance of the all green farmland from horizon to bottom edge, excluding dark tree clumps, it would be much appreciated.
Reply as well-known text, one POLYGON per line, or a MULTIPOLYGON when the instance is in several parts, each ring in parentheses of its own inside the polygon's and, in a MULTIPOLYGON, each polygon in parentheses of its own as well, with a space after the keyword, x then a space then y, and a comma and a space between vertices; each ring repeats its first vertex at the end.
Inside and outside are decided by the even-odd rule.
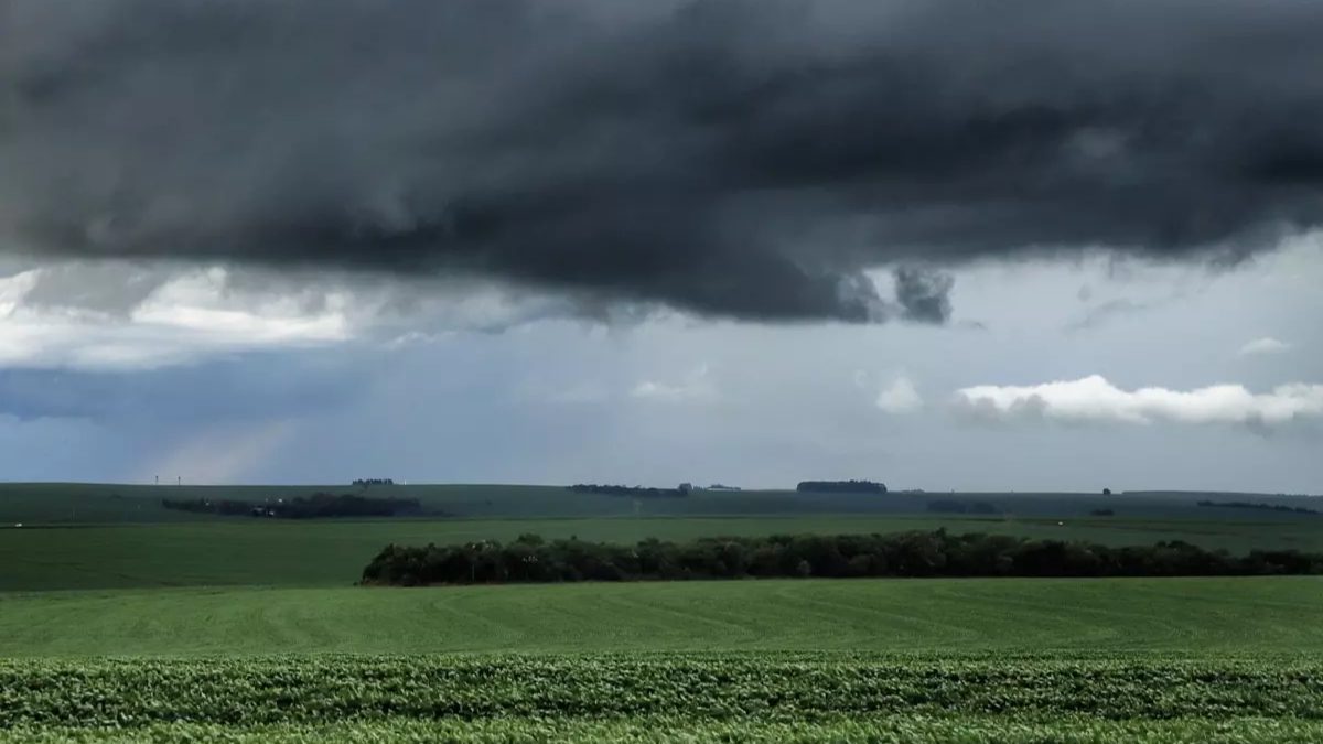
POLYGON ((0 528, 0 741, 1323 740, 1319 577, 352 585, 388 543, 524 532, 1323 551, 1312 515, 1188 494, 1114 496, 1106 518, 1088 516, 1099 496, 988 495, 1015 512, 972 519, 876 496, 396 488, 455 516, 160 508, 315 487, 0 487, 22 522, 0 528))

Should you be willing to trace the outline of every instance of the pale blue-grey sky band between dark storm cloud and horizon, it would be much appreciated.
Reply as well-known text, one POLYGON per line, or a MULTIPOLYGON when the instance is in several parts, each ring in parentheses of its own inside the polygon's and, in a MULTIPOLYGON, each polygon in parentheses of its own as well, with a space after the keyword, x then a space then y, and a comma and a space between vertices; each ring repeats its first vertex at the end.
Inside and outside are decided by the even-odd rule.
MULTIPOLYGON (((954 271, 959 314, 946 328, 541 314, 492 334, 490 323, 528 308, 483 294, 454 307, 418 299, 398 327, 349 315, 349 338, 296 347, 235 347, 229 330, 206 334, 230 319, 251 340, 340 306, 314 297, 284 307, 254 289, 267 287, 263 278, 212 282, 204 273, 134 304, 122 322, 136 331, 116 330, 115 299, 98 303, 106 318, 60 342, 85 352, 135 342, 144 323, 173 330, 148 347, 175 348, 165 356, 181 361, 108 369, 50 348, 66 307, 42 299, 26 315, 24 301, 0 316, 0 352, 28 360, 0 371, 0 471, 147 483, 336 483, 374 473, 467 483, 786 487, 826 477, 929 491, 1318 492, 1323 232, 1293 242, 1228 271, 1118 273, 1102 256, 980 262, 954 271), (1080 311, 1081 285, 1090 303, 1130 298, 1146 308, 1086 332, 1064 328, 1080 311), (152 308, 147 319, 142 307, 152 308), (398 336, 429 330, 419 318, 434 316, 468 320, 398 336), (959 323, 971 316, 986 328, 959 323), (1291 348, 1238 353, 1265 338, 1291 348), (24 339, 32 353, 20 347, 16 356, 13 342, 24 339), (52 364, 64 369, 40 368, 52 364), (1078 384, 1090 375, 1109 384, 1078 384), (1043 385, 1053 380, 1066 385, 1043 385), (980 385, 1007 410, 957 416, 957 391, 980 385), (1016 406, 1033 395, 1041 404, 1016 406)), ((73 274, 52 275, 64 286, 73 274)), ((878 285, 892 291, 889 278, 878 285)), ((347 306, 374 302, 353 293, 347 306)))

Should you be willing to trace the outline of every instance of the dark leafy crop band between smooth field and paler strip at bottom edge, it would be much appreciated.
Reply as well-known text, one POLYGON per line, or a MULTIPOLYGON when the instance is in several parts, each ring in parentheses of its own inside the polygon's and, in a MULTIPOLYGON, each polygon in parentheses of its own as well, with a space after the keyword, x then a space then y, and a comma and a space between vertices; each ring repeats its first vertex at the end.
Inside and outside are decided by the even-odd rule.
POLYGON ((1323 662, 779 654, 0 662, 0 728, 888 715, 1323 721, 1323 662))

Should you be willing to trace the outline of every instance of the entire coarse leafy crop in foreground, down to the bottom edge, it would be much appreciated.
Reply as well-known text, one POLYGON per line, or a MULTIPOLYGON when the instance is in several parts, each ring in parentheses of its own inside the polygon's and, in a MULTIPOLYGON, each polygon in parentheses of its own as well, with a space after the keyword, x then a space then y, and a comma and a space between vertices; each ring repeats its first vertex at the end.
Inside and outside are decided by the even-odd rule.
POLYGON ((1285 659, 42 659, 0 662, 0 739, 1308 741, 1320 686, 1285 659))

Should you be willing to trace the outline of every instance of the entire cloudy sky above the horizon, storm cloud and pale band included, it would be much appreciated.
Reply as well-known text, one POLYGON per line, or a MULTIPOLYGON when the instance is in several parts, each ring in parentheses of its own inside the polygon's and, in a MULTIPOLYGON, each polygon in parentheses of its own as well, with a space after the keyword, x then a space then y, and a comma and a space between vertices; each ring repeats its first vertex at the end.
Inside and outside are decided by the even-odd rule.
POLYGON ((1323 8, 646 5, 0 0, 0 478, 1323 492, 1323 8))

